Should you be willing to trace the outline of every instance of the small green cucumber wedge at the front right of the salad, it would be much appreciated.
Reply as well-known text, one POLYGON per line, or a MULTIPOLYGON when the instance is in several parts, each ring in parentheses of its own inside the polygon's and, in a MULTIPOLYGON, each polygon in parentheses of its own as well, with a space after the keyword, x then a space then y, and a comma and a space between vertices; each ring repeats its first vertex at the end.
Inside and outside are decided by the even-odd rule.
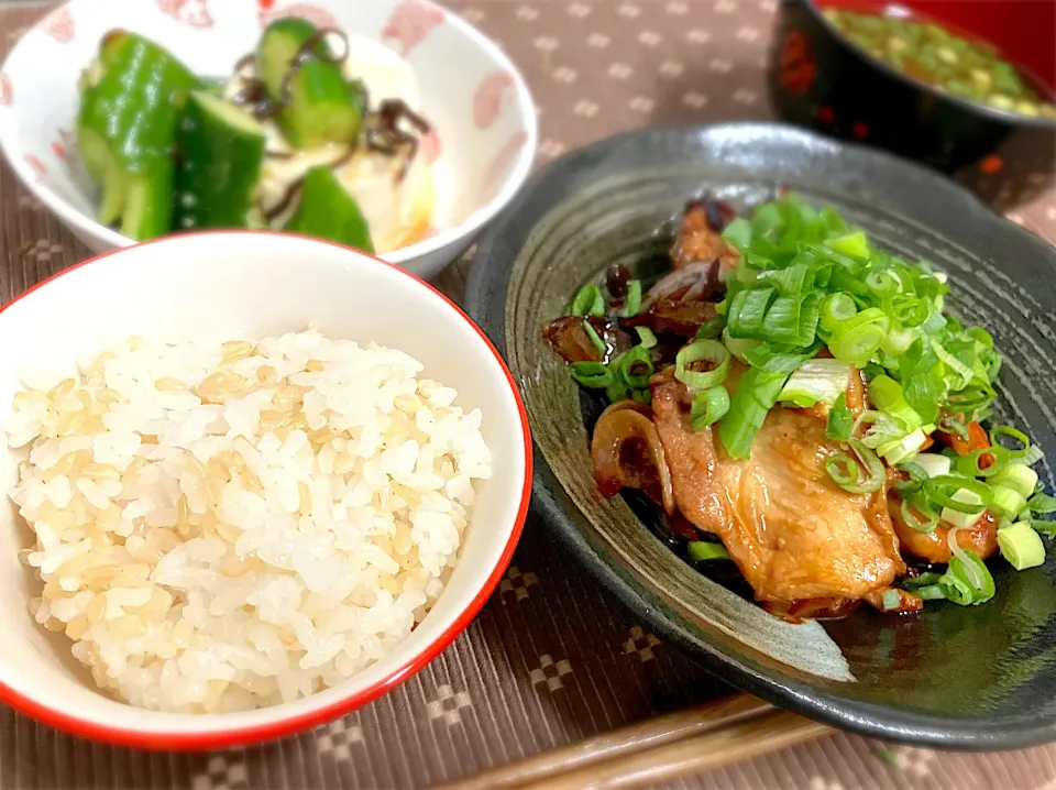
POLYGON ((312 167, 305 175, 300 204, 284 230, 374 252, 360 205, 329 167, 312 167))

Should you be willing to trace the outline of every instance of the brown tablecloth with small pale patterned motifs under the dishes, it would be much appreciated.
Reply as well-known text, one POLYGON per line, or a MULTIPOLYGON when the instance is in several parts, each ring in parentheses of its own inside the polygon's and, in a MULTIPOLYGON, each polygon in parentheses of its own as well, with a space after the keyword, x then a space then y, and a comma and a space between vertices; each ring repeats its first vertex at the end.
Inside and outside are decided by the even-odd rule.
MULTIPOLYGON (((762 68, 777 2, 477 0, 453 9, 525 72, 544 163, 624 129, 770 118, 762 68)), ((45 8, 0 2, 0 51, 45 8)), ((1056 239, 1052 194, 1009 216, 1056 239)), ((0 167, 0 300, 86 256, 0 167)), ((463 271, 446 273, 442 285, 458 293, 463 271)), ((649 634, 551 549, 543 525, 529 522, 469 630, 367 707, 298 737, 222 754, 94 745, 0 707, 0 789, 428 787, 729 691, 649 634)), ((966 755, 834 734, 669 787, 1056 790, 1056 746, 966 755)))

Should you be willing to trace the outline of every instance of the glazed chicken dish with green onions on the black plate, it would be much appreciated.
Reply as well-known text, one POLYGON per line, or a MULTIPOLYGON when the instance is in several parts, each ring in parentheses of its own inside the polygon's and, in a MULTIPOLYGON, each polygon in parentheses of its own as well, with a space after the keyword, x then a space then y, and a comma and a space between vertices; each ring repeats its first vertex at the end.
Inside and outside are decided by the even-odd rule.
POLYGON ((1041 564, 1040 450, 982 428, 1000 355, 943 314, 945 276, 795 196, 750 220, 691 201, 670 259, 648 289, 614 268, 543 328, 612 404, 603 494, 642 491, 691 561, 732 560, 790 619, 982 603, 999 551, 1041 564))

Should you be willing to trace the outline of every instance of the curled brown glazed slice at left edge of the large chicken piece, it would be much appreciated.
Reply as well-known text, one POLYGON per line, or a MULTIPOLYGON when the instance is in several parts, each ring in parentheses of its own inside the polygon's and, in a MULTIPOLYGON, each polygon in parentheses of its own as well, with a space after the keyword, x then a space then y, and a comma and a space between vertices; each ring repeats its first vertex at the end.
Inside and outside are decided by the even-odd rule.
POLYGON ((591 460, 603 495, 615 496, 620 489, 642 489, 648 470, 629 467, 623 457, 626 442, 641 442, 648 463, 656 470, 660 482, 663 509, 671 515, 674 513, 671 471, 651 416, 649 407, 636 401, 620 401, 606 408, 594 426, 591 460))

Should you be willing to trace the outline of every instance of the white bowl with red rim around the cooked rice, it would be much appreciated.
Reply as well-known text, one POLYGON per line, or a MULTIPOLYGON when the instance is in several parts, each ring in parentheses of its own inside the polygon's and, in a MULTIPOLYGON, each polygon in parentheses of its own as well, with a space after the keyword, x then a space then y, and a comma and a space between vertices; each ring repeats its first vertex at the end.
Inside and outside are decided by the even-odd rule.
POLYGON ((317 239, 252 231, 187 233, 106 253, 0 309, 0 424, 20 389, 19 371, 72 370, 82 354, 117 339, 262 339, 309 323, 331 339, 409 353, 425 366, 424 375, 457 389, 466 410, 481 410, 492 476, 477 486, 458 564, 432 608, 377 661, 296 701, 209 714, 118 702, 97 691, 70 654, 73 641, 30 614, 41 583, 19 555, 33 539, 8 496, 21 456, 0 436, 0 704, 124 746, 221 748, 292 735, 344 715, 403 683, 470 624, 503 578, 528 512, 528 416, 483 332, 447 297, 398 266, 317 239))

